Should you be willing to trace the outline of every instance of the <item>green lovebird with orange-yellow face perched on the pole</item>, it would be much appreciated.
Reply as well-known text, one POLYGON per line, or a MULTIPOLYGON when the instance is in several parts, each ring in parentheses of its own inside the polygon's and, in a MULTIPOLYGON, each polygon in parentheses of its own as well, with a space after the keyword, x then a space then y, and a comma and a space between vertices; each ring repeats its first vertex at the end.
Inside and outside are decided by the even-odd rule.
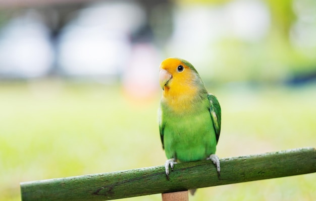
MULTIPOLYGON (((220 176, 216 146, 221 132, 221 106, 207 92, 194 66, 181 58, 167 58, 160 65, 163 89, 158 110, 159 130, 167 161, 173 169, 177 162, 212 160, 220 176)), ((192 193, 192 192, 191 192, 192 193)))

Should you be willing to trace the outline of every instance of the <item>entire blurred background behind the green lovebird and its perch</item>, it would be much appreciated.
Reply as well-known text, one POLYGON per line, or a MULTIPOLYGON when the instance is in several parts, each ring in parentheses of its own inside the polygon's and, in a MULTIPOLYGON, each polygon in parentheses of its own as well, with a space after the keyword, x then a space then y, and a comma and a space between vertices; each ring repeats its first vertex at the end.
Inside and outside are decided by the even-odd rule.
MULTIPOLYGON (((0 200, 20 200, 24 181, 163 165, 166 57, 189 60, 218 97, 220 158, 316 147, 315 11, 312 0, 0 0, 0 200)), ((190 200, 315 200, 315 180, 190 200)))

